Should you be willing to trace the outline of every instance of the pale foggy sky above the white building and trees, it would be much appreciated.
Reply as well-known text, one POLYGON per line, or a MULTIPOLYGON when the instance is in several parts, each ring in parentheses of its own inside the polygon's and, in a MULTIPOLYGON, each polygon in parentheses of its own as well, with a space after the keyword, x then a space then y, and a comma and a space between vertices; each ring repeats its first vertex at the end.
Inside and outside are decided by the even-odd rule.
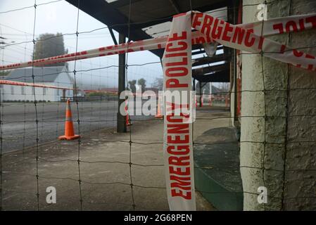
MULTIPOLYGON (((35 37, 43 33, 61 32, 64 34, 65 48, 68 52, 75 52, 77 29, 77 8, 66 1, 57 1, 51 4, 40 5, 51 0, 37 0, 35 37)), ((0 12, 17 8, 34 6, 34 0, 0 0, 0 12)), ((20 63, 31 60, 33 43, 32 34, 34 27, 34 7, 25 8, 20 11, 0 13, 0 36, 5 37, 6 44, 15 44, 0 49, 0 65, 20 63), (30 43, 20 42, 30 41, 30 43)), ((77 50, 95 49, 101 46, 113 45, 110 32, 106 25, 92 18, 87 13, 80 11, 78 32, 87 32, 102 28, 87 34, 79 34, 77 50)), ((118 39, 118 33, 115 32, 118 39)), ((1 45, 0 45, 1 46, 1 45)), ((153 83, 155 77, 162 77, 160 59, 149 51, 129 53, 128 64, 144 64, 158 62, 146 66, 130 66, 128 68, 128 79, 144 78, 147 85, 153 83)), ((74 63, 70 62, 70 70, 74 63)), ((117 86, 118 84, 118 56, 104 56, 93 59, 78 60, 76 70, 91 70, 93 68, 109 67, 103 70, 91 70, 89 72, 78 72, 76 75, 78 86, 84 89, 100 89, 103 87, 117 86)))

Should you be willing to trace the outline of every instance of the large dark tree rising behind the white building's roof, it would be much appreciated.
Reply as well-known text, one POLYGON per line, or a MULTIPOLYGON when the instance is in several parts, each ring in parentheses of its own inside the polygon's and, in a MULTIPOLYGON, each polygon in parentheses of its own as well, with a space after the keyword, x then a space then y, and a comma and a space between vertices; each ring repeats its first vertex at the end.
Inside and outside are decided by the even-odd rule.
MULTIPOLYGON (((60 56, 68 53, 63 43, 63 34, 40 34, 37 38, 34 51, 34 60, 51 56, 60 56)), ((65 65, 65 63, 53 63, 47 66, 65 65)))

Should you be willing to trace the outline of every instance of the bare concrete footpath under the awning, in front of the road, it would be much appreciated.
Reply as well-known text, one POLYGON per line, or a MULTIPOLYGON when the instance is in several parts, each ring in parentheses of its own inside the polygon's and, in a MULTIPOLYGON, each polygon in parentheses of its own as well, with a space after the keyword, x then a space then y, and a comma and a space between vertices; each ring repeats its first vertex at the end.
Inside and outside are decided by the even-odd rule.
MULTIPOLYGON (((203 116, 210 118, 210 113, 203 112, 203 116)), ((201 135, 213 124, 213 120, 198 120, 194 136, 201 135)), ((133 209, 129 186, 129 133, 116 134, 114 130, 94 131, 82 136, 83 210, 133 209)), ((163 168, 163 120, 134 122, 132 141, 135 209, 168 210, 163 168)), ((77 141, 54 141, 39 146, 39 210, 80 210, 78 148, 77 141), (56 187, 56 204, 46 203, 48 186, 56 187)), ((3 210, 37 210, 36 148, 24 153, 6 153, 2 162, 3 210)), ((197 195, 196 201, 198 210, 214 210, 201 195, 197 195)))

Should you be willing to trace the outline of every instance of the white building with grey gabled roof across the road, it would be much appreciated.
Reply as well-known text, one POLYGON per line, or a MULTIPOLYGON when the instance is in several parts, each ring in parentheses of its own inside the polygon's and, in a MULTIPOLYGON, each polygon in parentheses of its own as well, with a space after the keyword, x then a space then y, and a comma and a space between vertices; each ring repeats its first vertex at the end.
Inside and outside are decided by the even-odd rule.
MULTIPOLYGON (((32 68, 20 68, 12 70, 6 76, 6 79, 13 82, 33 83, 33 74, 35 84, 73 88, 72 77, 68 74, 68 69, 65 66, 33 68, 33 70, 32 68)), ((2 85, 1 100, 34 101, 33 89, 33 86, 2 85)), ((35 96, 37 101, 61 101, 61 98, 71 98, 73 91, 69 89, 35 87, 35 96)))

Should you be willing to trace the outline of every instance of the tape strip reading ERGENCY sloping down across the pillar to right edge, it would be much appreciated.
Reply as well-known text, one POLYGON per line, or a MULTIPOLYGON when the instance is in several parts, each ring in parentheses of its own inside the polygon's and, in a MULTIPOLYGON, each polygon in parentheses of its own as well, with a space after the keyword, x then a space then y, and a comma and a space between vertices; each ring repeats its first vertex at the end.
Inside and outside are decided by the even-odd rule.
MULTIPOLYGON (((316 18, 313 17, 311 20, 314 21, 315 19, 316 18)), ((213 18, 211 15, 194 12, 192 27, 206 35, 206 37, 224 46, 251 53, 261 53, 268 58, 289 63, 299 68, 316 70, 315 56, 296 49, 290 49, 284 44, 279 44, 277 41, 259 36, 251 32, 251 30, 245 30, 242 27, 237 27, 224 20, 213 18)), ((315 27, 315 23, 312 23, 310 27, 315 27)), ((289 32, 291 32, 291 30, 288 29, 289 32)))

